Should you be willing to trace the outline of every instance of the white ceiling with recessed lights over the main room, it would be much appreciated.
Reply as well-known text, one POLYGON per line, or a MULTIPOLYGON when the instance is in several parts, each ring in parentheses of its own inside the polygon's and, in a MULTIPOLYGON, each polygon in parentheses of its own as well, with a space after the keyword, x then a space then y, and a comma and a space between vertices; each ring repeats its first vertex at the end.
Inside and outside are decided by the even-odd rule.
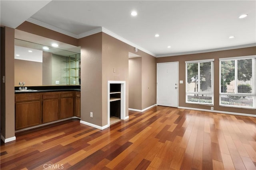
MULTIPOLYGON (((7 25, 11 19, 6 21, 6 15, 2 18, 3 2, 1 25, 7 25)), ((38 12, 25 7, 15 12, 16 18, 31 11, 31 18, 26 20, 76 38, 102 30, 156 57, 256 45, 255 0, 52 0, 45 6, 41 1, 19 2, 33 2, 38 12), (136 17, 130 15, 133 10, 138 13, 136 17), (248 17, 239 19, 241 14, 248 17), (156 33, 160 36, 154 37, 156 33), (230 35, 235 38, 229 39, 230 35)), ((4 5, 4 13, 14 13, 16 8, 4 5)), ((15 28, 13 25, 10 27, 15 28)))

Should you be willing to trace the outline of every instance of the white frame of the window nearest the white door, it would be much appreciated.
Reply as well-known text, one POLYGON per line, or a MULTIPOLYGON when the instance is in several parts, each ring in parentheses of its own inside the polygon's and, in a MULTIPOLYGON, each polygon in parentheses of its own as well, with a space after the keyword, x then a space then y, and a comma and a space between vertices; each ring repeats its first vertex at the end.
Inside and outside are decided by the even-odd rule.
MULTIPOLYGON (((186 103, 188 104, 200 104, 200 105, 208 105, 208 106, 213 106, 214 105, 214 59, 207 59, 207 60, 195 60, 195 61, 185 61, 186 65, 186 103), (212 78, 212 84, 211 84, 211 90, 212 90, 212 103, 199 103, 199 102, 188 102, 188 95, 190 94, 187 92, 187 80, 188 80, 188 63, 207 63, 211 62, 211 78, 212 78)), ((198 74, 200 75, 200 64, 198 64, 198 74)), ((200 89, 200 78, 198 79, 198 89, 200 89)), ((198 95, 208 95, 209 92, 193 92, 193 94, 198 94, 198 95)))

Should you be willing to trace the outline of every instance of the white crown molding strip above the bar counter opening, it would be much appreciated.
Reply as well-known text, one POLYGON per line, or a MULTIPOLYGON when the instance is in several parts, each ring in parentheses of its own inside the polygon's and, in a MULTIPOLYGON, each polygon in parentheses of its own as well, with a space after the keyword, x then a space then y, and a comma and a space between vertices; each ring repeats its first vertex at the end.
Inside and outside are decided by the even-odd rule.
POLYGON ((63 29, 54 27, 54 26, 52 26, 52 25, 49 25, 49 24, 47 24, 47 23, 38 21, 38 20, 36 20, 36 19, 28 18, 27 21, 28 21, 28 22, 31 22, 31 23, 34 23, 34 24, 36 24, 36 25, 39 25, 39 26, 41 26, 41 27, 45 27, 45 28, 51 29, 51 30, 56 31, 56 32, 58 32, 58 33, 62 33, 62 34, 68 35, 68 36, 70 36, 70 37, 73 37, 73 38, 78 39, 78 35, 76 35, 76 34, 74 34, 74 33, 70 33, 70 32, 68 32, 68 31, 65 31, 65 30, 63 30, 63 29))

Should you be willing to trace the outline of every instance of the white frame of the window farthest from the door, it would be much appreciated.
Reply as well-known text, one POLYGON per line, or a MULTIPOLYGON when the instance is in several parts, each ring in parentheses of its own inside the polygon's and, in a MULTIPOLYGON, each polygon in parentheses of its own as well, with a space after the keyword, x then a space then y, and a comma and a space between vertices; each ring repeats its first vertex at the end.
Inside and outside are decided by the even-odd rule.
POLYGON ((250 55, 250 56, 242 56, 242 57, 229 57, 229 58, 220 58, 219 59, 219 105, 224 106, 224 107, 239 107, 239 108, 246 108, 246 109, 255 109, 256 108, 256 55, 250 55), (237 92, 237 60, 241 59, 252 59, 252 84, 254 87, 252 87, 252 93, 238 93, 237 92), (236 88, 234 93, 222 93, 221 92, 221 61, 230 61, 230 60, 235 60, 235 80, 236 80, 236 88), (252 107, 249 106, 236 106, 236 105, 227 105, 227 104, 221 104, 221 96, 254 96, 254 103, 252 107))

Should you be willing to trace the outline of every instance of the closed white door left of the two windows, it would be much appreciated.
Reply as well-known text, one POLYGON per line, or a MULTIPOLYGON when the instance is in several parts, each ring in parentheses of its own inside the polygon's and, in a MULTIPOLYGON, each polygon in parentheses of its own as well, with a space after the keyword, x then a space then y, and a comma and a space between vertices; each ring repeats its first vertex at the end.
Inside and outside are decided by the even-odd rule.
POLYGON ((157 63, 157 105, 178 107, 178 62, 157 63))

